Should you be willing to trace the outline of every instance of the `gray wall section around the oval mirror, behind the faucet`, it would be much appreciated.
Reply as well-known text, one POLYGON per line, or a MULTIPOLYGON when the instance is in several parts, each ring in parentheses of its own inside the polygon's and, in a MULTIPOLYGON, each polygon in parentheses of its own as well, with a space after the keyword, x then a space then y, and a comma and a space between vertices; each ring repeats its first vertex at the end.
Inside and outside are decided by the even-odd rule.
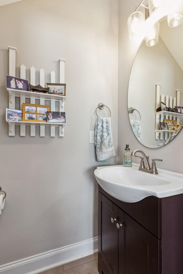
MULTIPOLYGON (((122 163, 125 144, 130 144, 131 150, 144 150, 150 156, 150 161, 152 158, 163 159, 157 167, 182 172, 182 132, 168 145, 152 149, 138 142, 130 126, 127 110, 128 82, 139 45, 128 37, 127 20, 138 4, 137 0, 119 0, 118 163, 122 163)), ((136 158, 132 160, 139 162, 136 158)))

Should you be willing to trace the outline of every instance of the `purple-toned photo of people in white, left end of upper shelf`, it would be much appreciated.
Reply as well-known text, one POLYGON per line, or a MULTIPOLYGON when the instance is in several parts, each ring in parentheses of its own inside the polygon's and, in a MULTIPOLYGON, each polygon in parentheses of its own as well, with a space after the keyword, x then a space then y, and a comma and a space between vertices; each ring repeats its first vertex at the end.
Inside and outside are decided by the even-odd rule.
POLYGON ((17 90, 29 90, 29 81, 6 75, 6 87, 17 90))

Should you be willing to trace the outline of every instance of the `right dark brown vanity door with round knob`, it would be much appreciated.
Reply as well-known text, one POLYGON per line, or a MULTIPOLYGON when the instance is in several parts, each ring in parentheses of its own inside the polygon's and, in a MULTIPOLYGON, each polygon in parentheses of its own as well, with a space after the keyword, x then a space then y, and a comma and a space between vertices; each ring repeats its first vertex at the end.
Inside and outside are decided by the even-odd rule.
POLYGON ((160 273, 160 241, 127 214, 119 229, 119 274, 160 273))

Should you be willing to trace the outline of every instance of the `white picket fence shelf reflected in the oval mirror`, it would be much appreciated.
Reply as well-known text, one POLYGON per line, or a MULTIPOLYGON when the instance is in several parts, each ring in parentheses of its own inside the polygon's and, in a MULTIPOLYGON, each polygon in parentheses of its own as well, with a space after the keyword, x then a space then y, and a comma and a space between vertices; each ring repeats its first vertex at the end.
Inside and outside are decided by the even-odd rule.
MULTIPOLYGON (((175 106, 180 106, 180 89, 176 90, 177 97, 172 98, 172 96, 160 95, 161 84, 156 84, 156 109, 160 107, 160 101, 166 104, 167 107, 174 108, 175 106)), ((160 122, 164 119, 176 120, 179 124, 180 120, 183 119, 183 114, 175 113, 171 111, 158 111, 156 112, 156 125, 155 125, 155 139, 156 140, 167 140, 172 136, 174 131, 170 130, 160 130, 160 122)))

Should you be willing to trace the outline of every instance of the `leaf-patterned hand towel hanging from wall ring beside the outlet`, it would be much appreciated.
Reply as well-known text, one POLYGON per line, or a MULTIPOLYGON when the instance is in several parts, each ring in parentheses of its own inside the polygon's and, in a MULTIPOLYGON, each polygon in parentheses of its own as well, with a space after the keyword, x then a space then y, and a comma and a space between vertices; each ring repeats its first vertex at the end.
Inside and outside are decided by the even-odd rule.
POLYGON ((95 126, 94 145, 96 146, 97 161, 105 161, 116 155, 112 139, 110 117, 98 117, 95 126))

